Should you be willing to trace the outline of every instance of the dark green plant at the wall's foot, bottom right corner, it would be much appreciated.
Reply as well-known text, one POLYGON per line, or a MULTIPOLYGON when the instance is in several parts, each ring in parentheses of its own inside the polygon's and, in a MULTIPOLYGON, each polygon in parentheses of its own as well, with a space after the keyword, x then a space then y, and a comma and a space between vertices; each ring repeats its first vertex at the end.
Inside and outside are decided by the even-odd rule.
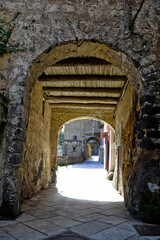
POLYGON ((139 216, 144 222, 160 223, 160 190, 156 190, 139 202, 139 216))

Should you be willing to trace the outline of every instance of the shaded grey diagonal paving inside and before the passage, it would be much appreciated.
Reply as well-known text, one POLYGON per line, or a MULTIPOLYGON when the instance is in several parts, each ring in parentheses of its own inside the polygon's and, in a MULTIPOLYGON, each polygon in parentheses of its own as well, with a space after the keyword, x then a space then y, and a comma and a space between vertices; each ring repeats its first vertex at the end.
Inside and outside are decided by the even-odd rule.
POLYGON ((39 240, 68 228, 97 240, 160 240, 160 237, 138 235, 132 225, 143 223, 129 216, 123 202, 78 200, 63 197, 57 189, 53 191, 44 190, 39 198, 23 204, 23 213, 16 220, 0 221, 0 240, 4 237, 4 240, 39 240))

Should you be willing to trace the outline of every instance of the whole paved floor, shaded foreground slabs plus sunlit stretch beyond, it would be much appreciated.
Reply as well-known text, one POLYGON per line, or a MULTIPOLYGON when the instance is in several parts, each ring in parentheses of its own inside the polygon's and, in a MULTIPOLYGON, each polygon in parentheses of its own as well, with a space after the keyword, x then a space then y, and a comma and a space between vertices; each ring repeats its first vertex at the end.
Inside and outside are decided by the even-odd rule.
POLYGON ((143 223, 129 216, 103 166, 89 159, 59 167, 57 185, 23 204, 16 220, 0 221, 0 240, 46 239, 66 230, 92 240, 160 240, 139 236, 134 224, 143 223))

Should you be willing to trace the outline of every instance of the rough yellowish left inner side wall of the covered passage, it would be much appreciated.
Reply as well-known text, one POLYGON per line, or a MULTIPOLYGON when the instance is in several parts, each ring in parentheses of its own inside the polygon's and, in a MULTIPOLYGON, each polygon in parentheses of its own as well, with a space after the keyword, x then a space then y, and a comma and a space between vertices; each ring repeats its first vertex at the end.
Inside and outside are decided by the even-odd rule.
POLYGON ((36 83, 31 93, 30 115, 19 168, 21 201, 31 198, 51 182, 50 108, 44 101, 42 87, 36 83))

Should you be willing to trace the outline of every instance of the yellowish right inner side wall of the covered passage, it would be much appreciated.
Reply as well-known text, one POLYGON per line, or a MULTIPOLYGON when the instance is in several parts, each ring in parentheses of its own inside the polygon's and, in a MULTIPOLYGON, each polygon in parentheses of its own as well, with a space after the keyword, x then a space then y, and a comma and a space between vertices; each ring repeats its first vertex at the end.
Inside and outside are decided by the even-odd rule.
MULTIPOLYGON (((125 95, 118 104, 115 114, 115 144, 116 144, 116 166, 114 172, 114 187, 124 195, 125 185, 132 169, 132 152, 133 152, 133 128, 134 128, 134 111, 133 111, 134 91, 129 83, 125 95), (119 172, 118 187, 117 173, 118 166, 118 148, 122 147, 122 172, 119 172), (123 174, 122 174, 123 173, 123 174)), ((120 171, 121 171, 120 170, 120 171)))

